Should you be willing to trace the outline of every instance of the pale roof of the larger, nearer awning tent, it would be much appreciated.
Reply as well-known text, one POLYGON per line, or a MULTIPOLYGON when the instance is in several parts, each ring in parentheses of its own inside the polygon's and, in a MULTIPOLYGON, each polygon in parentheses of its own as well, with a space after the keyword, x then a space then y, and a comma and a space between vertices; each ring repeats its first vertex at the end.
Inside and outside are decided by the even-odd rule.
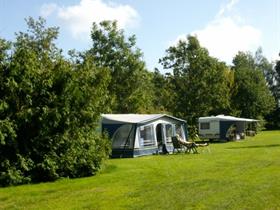
POLYGON ((169 117, 181 122, 182 119, 166 115, 166 114, 102 114, 102 123, 115 124, 115 123, 146 123, 157 120, 162 117, 169 117))

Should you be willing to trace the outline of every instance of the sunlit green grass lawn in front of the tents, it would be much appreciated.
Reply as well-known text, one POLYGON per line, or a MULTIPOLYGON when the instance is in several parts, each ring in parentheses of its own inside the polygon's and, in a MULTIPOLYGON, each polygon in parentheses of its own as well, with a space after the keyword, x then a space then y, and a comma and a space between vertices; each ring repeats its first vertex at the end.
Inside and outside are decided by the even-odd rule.
POLYGON ((209 148, 112 159, 94 177, 0 188, 0 209, 280 209, 280 131, 209 148))

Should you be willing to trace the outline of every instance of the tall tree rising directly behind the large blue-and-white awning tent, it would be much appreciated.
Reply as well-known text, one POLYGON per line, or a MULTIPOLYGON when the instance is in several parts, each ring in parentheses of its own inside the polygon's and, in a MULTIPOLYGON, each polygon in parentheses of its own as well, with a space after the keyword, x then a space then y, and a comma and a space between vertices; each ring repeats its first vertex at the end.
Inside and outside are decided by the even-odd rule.
POLYGON ((92 48, 87 54, 98 67, 110 70, 109 91, 115 113, 146 113, 153 109, 152 76, 135 46, 135 36, 125 38, 116 22, 93 23, 92 48))

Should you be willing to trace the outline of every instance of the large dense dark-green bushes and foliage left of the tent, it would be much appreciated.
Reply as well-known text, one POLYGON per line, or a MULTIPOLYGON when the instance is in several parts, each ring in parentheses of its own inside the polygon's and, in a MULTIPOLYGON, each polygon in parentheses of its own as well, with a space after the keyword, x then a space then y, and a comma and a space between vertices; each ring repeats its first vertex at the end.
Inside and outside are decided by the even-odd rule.
POLYGON ((64 59, 43 19, 27 24, 12 46, 0 42, 0 185, 93 175, 110 152, 96 132, 109 71, 64 59))

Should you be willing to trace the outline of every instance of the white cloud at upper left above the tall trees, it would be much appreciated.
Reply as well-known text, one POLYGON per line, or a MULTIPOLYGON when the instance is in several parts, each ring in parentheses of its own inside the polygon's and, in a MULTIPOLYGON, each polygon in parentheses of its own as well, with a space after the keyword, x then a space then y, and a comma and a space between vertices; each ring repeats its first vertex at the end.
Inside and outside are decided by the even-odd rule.
MULTIPOLYGON (((51 5, 50 8, 54 7, 51 5)), ((47 5, 45 8, 48 8, 47 5)), ((139 20, 137 11, 131 6, 105 3, 103 0, 81 0, 77 5, 66 7, 56 5, 52 12, 77 39, 89 38, 93 22, 116 20, 119 28, 127 28, 137 25, 139 20)))

